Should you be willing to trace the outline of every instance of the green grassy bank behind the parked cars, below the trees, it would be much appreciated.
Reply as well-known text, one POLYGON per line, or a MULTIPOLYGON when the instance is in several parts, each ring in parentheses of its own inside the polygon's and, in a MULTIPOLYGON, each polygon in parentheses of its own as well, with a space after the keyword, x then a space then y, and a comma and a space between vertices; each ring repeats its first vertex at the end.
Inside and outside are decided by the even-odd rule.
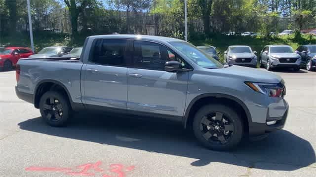
MULTIPOLYGON (((84 39, 89 34, 77 35, 73 38, 67 34, 54 34, 50 32, 34 32, 34 45, 35 51, 38 52, 47 46, 82 46, 84 39)), ((220 55, 220 61, 223 62, 223 52, 230 45, 248 45, 253 51, 257 51, 257 55, 265 45, 270 44, 285 44, 290 45, 295 50, 302 44, 316 44, 316 36, 301 35, 295 37, 294 35, 284 35, 269 38, 250 37, 250 36, 232 36, 232 35, 213 35, 209 39, 204 40, 190 40, 194 45, 213 45, 217 48, 220 55)), ((17 33, 14 35, 1 35, 0 45, 6 44, 7 46, 25 46, 31 47, 30 37, 27 32, 17 33)))

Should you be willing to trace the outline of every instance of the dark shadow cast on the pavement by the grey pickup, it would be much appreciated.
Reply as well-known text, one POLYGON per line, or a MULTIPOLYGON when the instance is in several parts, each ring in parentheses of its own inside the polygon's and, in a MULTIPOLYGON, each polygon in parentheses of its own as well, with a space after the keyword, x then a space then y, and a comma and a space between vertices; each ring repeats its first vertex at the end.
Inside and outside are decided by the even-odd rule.
POLYGON ((243 142, 230 152, 217 152, 200 146, 191 132, 181 126, 154 121, 81 114, 76 115, 68 127, 49 127, 41 117, 21 122, 19 126, 23 130, 51 136, 197 159, 192 166, 221 162, 292 171, 316 162, 310 142, 285 130, 276 131, 260 142, 243 142))

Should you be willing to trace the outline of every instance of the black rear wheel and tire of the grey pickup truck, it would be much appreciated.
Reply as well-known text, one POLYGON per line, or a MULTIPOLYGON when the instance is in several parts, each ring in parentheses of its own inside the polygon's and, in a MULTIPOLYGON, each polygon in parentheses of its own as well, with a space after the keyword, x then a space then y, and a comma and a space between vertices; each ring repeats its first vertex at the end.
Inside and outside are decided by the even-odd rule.
POLYGON ((67 96, 61 93, 48 91, 40 97, 40 114, 50 126, 61 127, 67 125, 71 112, 67 96))

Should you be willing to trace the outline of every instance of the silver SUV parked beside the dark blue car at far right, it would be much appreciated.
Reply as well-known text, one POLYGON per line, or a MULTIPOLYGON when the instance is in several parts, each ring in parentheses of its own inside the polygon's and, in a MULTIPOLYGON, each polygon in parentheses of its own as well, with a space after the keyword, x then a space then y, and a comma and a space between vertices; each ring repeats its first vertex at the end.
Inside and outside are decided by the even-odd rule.
POLYGON ((301 56, 289 45, 267 45, 259 57, 260 67, 266 67, 268 71, 273 68, 293 68, 299 71, 301 68, 301 56))

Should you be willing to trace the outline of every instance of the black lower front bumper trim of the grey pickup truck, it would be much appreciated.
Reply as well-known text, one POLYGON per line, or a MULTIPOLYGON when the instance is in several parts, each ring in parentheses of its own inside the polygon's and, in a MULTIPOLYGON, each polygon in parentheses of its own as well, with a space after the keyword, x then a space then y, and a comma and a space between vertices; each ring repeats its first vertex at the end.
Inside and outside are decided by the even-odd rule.
MULTIPOLYGON (((285 102, 286 103, 286 102, 285 102)), ((287 114, 288 114, 289 106, 286 103, 286 110, 281 117, 270 117, 267 114, 266 123, 249 123, 249 136, 261 136, 266 133, 270 133, 276 130, 280 130, 284 128, 287 114), (273 125, 267 125, 267 122, 276 121, 273 125)))

